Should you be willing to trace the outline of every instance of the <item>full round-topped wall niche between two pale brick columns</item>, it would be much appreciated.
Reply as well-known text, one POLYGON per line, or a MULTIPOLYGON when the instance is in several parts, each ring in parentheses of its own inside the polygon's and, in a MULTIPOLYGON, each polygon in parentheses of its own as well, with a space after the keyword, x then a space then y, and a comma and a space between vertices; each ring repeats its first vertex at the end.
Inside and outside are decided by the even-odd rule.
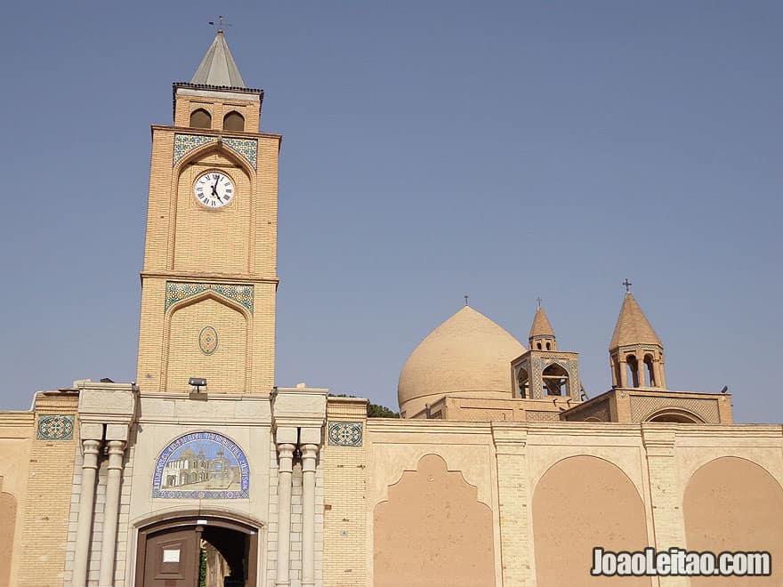
MULTIPOLYGON (((520 506, 521 507, 521 506, 520 506)), ((642 551, 648 546, 642 498, 611 462, 579 455, 556 462, 533 493, 537 587, 617 585, 593 577, 593 547, 642 551)), ((650 577, 623 577, 628 587, 650 587, 650 577)))

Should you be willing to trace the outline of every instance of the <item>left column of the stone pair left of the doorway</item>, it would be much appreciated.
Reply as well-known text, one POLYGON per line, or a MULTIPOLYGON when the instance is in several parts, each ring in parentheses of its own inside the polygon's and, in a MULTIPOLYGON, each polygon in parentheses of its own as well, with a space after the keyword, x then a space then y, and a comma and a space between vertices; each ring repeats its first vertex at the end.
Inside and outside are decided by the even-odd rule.
POLYGON ((73 586, 87 584, 87 563, 90 558, 90 536, 93 530, 93 503, 95 500, 95 478, 98 474, 98 453, 101 449, 103 426, 82 424, 82 483, 79 493, 77 518, 77 541, 74 553, 73 586))

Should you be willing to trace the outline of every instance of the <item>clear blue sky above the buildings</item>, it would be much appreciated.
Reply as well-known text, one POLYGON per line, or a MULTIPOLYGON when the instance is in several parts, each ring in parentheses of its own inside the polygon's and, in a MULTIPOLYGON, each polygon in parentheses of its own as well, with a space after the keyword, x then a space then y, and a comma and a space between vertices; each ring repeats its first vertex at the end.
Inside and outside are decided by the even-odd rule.
POLYGON ((278 385, 396 408, 471 305, 544 299, 593 396, 630 277, 675 390, 783 421, 783 4, 4 7, 0 406, 135 379, 149 125, 217 12, 280 165, 278 385))

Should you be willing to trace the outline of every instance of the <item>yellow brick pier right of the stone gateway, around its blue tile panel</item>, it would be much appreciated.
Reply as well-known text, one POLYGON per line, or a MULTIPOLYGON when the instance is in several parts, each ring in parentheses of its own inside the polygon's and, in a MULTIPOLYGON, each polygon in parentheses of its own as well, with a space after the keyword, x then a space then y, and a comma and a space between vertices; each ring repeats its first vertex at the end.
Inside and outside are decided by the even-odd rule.
MULTIPOLYGON (((367 400, 328 398, 328 422, 361 422, 366 430, 367 400)), ((324 443, 324 587, 365 587, 367 550, 367 444, 324 443)))

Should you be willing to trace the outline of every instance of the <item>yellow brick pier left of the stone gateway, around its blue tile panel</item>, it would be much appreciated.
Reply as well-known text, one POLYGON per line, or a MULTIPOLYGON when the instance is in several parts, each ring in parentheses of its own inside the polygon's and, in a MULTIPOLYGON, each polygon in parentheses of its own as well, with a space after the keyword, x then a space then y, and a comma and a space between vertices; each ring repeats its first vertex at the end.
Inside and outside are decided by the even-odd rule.
MULTIPOLYGON (((39 414, 76 414, 75 392, 36 394, 39 414)), ((19 587, 60 587, 68 539, 73 440, 33 440, 28 473, 28 500, 24 511, 19 587)))

